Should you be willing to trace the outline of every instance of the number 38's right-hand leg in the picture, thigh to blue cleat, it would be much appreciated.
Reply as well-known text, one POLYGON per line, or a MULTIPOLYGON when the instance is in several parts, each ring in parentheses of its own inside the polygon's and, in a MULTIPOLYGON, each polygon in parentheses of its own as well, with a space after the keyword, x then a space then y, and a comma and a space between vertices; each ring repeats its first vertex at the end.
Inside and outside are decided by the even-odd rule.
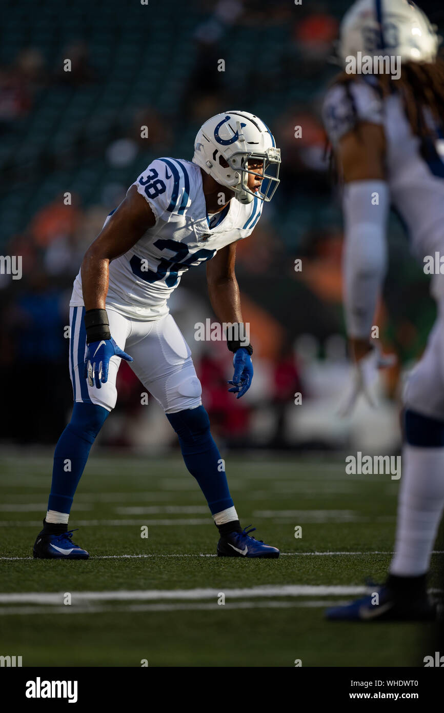
POLYGON ((279 550, 249 537, 239 524, 224 461, 212 438, 207 411, 202 406, 202 387, 180 329, 170 314, 152 324, 148 336, 137 343, 133 338, 128 341, 134 358, 130 367, 160 403, 179 437, 185 465, 199 483, 220 531, 218 553, 279 556, 279 550))

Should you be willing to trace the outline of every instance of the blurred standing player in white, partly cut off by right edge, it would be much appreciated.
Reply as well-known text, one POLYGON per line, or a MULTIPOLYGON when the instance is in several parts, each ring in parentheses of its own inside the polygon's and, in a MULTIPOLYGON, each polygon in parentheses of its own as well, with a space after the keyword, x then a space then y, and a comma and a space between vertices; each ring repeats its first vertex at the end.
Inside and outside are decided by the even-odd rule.
MULTIPOLYGON (((444 252, 444 70, 438 43, 428 18, 408 0, 358 0, 341 24, 344 68, 356 61, 357 69, 341 73, 329 89, 324 123, 344 181, 344 307, 354 361, 349 410, 387 364, 370 334, 386 270, 390 205, 420 260, 444 252), (358 73, 358 63, 375 56, 401 58, 401 73, 393 73, 393 63, 384 65, 384 73, 374 65, 373 73, 358 73)), ((378 597, 328 610, 331 620, 435 616, 426 578, 444 506, 443 279, 433 278, 438 319, 404 396, 403 472, 388 579, 378 597)))

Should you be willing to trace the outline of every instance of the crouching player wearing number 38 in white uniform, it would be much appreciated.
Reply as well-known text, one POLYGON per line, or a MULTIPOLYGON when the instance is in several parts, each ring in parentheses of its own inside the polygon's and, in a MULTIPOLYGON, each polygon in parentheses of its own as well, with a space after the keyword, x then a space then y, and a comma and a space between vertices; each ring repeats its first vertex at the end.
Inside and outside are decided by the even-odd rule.
POLYGON ((239 525, 190 348, 167 300, 189 267, 208 261, 212 307, 220 322, 232 325, 227 329, 227 346, 234 352, 229 391, 243 396, 253 376, 252 347, 242 330, 235 244, 251 235, 264 201, 271 200, 280 160, 262 120, 244 111, 224 112, 200 129, 192 162, 154 160, 105 220, 74 282, 73 414, 56 446, 48 511, 34 557, 88 558, 71 540, 68 515, 91 445, 115 406, 121 359, 130 363, 177 432, 185 464, 220 532, 217 554, 279 557, 277 548, 239 525))

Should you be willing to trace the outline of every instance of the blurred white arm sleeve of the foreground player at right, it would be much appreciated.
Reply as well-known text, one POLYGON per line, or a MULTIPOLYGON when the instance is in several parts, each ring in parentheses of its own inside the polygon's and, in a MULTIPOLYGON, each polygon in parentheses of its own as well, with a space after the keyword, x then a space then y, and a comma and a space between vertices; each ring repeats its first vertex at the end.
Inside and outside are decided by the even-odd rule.
POLYGON ((389 205, 385 181, 360 180, 345 185, 344 309, 347 334, 356 339, 370 337, 386 274, 389 205))

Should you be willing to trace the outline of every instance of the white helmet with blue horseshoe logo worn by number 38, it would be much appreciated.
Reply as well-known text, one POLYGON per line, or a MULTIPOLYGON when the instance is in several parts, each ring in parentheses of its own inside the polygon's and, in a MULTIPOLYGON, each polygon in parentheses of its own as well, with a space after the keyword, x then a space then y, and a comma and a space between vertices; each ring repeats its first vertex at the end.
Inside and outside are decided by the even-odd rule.
POLYGON ((205 121, 197 132, 192 161, 217 183, 231 188, 241 203, 272 200, 279 185, 281 150, 267 125, 247 111, 224 111, 205 121), (249 162, 262 162, 262 173, 249 170, 249 162), (263 178, 257 193, 248 188, 249 173, 263 178))

